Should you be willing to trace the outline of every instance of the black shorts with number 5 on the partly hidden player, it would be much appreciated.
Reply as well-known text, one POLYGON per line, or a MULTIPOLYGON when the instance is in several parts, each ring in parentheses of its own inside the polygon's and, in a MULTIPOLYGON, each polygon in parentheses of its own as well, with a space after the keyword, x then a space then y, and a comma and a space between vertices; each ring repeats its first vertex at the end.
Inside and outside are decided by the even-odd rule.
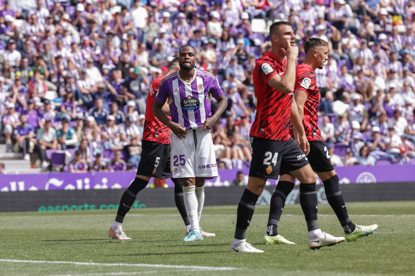
POLYGON ((140 163, 137 175, 155 177, 159 179, 170 178, 170 151, 171 144, 160 144, 152 141, 142 141, 140 163))

